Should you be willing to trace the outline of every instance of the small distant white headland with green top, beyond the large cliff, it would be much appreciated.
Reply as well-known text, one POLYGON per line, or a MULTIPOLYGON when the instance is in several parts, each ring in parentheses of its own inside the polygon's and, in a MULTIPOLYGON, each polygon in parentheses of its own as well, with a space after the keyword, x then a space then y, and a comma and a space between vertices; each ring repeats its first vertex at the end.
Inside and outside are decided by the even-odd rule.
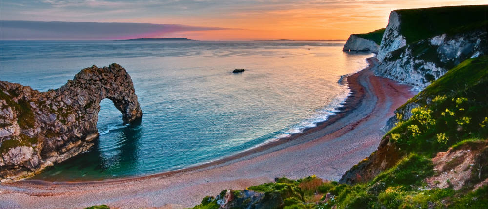
POLYGON ((379 29, 366 34, 351 34, 342 51, 362 51, 377 53, 385 29, 379 29))

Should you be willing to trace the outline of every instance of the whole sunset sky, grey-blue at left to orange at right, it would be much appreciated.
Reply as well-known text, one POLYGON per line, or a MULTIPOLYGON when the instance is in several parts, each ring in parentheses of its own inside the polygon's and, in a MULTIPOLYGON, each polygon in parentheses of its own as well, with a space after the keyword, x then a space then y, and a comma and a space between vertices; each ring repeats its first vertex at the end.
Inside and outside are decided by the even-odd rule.
POLYGON ((344 40, 386 27, 392 10, 486 2, 0 0, 0 39, 344 40))

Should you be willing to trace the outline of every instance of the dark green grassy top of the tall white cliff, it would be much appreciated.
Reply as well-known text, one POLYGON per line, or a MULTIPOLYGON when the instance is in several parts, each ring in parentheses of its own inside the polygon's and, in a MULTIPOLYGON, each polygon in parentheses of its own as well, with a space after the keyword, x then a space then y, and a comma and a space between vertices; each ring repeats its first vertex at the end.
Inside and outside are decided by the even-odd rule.
POLYGON ((395 11, 401 19, 400 32, 409 44, 448 33, 454 28, 486 21, 488 6, 448 6, 395 11))

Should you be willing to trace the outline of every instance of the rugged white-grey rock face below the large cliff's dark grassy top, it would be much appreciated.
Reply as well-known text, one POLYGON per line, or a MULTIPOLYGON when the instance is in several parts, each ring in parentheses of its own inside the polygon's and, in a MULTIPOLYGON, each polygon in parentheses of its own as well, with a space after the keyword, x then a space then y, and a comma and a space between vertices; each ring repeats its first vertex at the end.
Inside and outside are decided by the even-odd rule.
POLYGON ((422 90, 462 61, 486 55, 487 39, 487 28, 481 27, 416 41, 386 53, 374 72, 422 90))

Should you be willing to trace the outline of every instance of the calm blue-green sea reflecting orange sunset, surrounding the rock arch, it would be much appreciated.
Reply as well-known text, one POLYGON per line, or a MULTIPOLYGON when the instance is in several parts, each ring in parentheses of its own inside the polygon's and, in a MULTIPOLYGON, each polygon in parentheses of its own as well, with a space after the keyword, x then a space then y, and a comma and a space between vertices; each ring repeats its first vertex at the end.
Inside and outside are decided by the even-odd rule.
POLYGON ((371 54, 341 41, 1 41, 1 80, 46 91, 82 68, 115 62, 132 76, 144 113, 122 125, 101 103, 89 151, 36 179, 96 180, 171 171, 236 154, 334 114, 349 94, 341 76, 371 54), (247 69, 233 74, 236 68, 247 69))

